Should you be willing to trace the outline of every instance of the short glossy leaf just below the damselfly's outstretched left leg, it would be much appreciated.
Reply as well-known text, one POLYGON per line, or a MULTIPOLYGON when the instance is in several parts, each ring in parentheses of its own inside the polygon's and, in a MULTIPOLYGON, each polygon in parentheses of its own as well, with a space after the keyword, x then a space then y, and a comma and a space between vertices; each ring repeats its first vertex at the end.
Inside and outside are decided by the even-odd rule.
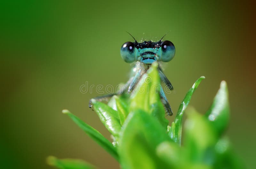
POLYGON ((108 131, 117 139, 121 130, 118 113, 108 105, 92 100, 95 112, 108 131))

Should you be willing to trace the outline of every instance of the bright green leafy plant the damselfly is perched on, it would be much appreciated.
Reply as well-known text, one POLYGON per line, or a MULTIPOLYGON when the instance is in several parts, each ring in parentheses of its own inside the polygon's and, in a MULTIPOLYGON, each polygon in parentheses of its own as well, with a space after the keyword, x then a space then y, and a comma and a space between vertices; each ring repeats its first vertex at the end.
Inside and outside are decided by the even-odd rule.
MULTIPOLYGON (((234 155, 227 137, 223 136, 229 120, 226 82, 221 82, 212 106, 204 115, 194 108, 187 109, 182 130, 184 111, 204 77, 200 77, 190 88, 180 104, 175 121, 168 126, 157 87, 154 88, 160 85, 156 69, 157 64, 153 64, 140 81, 140 90, 136 90, 131 97, 125 94, 114 96, 108 105, 94 101, 94 110, 113 136, 113 143, 68 110, 63 110, 63 113, 108 151, 122 169, 244 168, 234 155), (152 80, 145 80, 149 77, 152 80), (155 90, 141 92, 147 88, 155 90), (181 134, 184 135, 182 140, 181 134)), ((49 157, 48 163, 61 169, 95 168, 80 160, 54 157, 49 157)))

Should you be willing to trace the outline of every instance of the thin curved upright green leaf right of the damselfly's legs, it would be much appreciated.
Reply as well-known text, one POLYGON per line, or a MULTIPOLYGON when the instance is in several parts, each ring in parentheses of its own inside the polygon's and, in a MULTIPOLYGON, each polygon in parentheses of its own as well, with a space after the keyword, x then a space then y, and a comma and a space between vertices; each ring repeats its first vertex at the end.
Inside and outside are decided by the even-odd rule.
POLYGON ((170 133, 170 136, 172 140, 175 143, 181 144, 181 131, 182 131, 182 117, 184 114, 184 111, 188 107, 188 103, 191 100, 192 94, 195 92, 197 89, 198 85, 201 83, 201 81, 204 79, 204 76, 201 76, 199 79, 196 80, 194 85, 189 89, 188 93, 186 94, 185 98, 180 104, 180 107, 178 109, 177 115, 174 120, 174 124, 172 124, 172 132, 170 133), (174 127, 174 129, 173 129, 174 127))

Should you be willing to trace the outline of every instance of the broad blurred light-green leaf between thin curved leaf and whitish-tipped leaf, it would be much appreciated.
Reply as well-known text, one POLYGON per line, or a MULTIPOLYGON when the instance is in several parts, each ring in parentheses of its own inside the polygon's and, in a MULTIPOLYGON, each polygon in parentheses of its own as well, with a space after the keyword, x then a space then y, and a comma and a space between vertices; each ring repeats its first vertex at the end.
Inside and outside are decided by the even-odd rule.
POLYGON ((189 107, 184 125, 184 147, 192 163, 212 165, 217 134, 203 115, 189 107))

